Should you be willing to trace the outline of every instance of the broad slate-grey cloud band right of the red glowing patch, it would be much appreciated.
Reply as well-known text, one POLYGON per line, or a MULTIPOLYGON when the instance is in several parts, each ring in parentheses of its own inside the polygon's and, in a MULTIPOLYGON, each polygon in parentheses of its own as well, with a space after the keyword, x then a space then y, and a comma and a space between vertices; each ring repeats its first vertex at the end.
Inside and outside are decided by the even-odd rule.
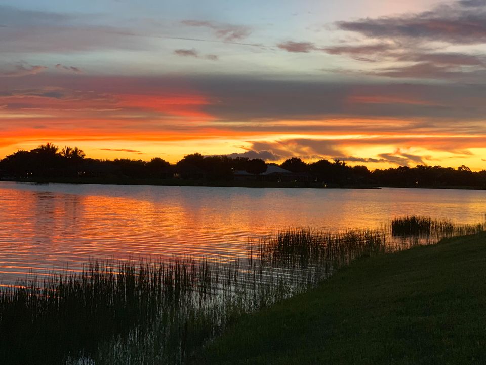
MULTIPOLYGON (((193 80, 193 85, 218 100, 205 109, 222 120, 304 121, 336 116, 482 120, 486 113, 478 98, 486 92, 483 85, 373 85, 230 76, 193 80), (377 98, 372 102, 356 98, 370 95, 377 98)), ((395 123, 393 128, 399 126, 395 123)))

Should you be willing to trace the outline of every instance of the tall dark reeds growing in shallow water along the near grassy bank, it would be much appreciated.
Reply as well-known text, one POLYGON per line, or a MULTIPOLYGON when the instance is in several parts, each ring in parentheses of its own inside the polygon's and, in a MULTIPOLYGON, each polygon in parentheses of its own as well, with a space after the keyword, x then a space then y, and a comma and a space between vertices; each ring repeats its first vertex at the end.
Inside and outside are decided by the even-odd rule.
MULTIPOLYGON (((427 236, 440 238, 434 227, 427 236)), ((485 224, 455 227, 447 234, 485 224)), ((0 290, 0 362, 187 363, 248 313, 315 287, 356 258, 409 246, 390 239, 386 230, 289 228, 249 242, 245 260, 92 261, 80 273, 29 277, 0 290)))

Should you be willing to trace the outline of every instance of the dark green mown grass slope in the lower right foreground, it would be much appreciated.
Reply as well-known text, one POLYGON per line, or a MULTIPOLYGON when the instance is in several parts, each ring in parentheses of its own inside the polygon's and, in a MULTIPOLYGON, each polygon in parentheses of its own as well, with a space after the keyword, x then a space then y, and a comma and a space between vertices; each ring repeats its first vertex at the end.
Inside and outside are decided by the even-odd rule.
POLYGON ((243 317, 193 362, 486 363, 486 233, 358 259, 243 317))

